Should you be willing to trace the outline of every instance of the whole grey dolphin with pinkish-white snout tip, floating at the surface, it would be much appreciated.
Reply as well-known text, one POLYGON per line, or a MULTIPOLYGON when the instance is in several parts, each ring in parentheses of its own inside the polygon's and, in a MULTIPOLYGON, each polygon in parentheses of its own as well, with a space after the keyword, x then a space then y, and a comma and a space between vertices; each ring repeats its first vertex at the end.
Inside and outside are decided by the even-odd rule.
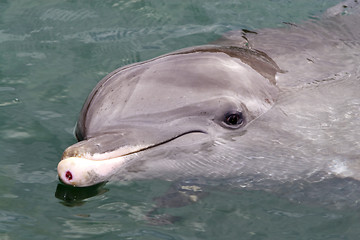
POLYGON ((360 179, 358 12, 115 70, 86 100, 60 179, 360 179))

